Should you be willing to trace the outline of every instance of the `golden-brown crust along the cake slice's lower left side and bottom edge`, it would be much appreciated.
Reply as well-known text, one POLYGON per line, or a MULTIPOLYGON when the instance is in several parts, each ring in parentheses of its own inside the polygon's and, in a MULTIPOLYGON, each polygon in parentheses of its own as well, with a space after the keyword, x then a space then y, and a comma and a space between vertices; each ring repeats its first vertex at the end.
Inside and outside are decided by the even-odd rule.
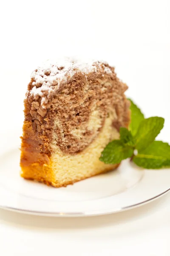
MULTIPOLYGON (((105 166, 104 168, 102 168, 102 171, 99 171, 96 166, 96 170, 94 170, 93 173, 87 174, 83 177, 81 175, 78 177, 74 177, 74 179, 71 178, 71 180, 60 182, 59 180, 56 180, 56 177, 54 176, 54 163, 51 159, 51 155, 44 154, 40 150, 39 140, 35 138, 35 133, 31 127, 30 122, 24 123, 23 131, 25 132, 23 133, 22 137, 20 166, 22 169, 21 177, 24 177, 25 179, 37 180, 47 185, 61 187, 73 184, 79 180, 83 180, 100 173, 109 172, 119 166, 119 164, 105 165, 104 163, 101 163, 101 165, 105 166)), ((44 137, 42 137, 41 140, 44 140, 45 142, 44 137)))

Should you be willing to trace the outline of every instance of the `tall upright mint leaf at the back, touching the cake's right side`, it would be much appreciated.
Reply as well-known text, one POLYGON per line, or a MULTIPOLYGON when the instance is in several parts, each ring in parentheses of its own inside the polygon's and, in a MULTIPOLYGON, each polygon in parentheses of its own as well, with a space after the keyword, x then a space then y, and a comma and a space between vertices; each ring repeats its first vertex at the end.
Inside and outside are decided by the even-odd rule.
POLYGON ((144 114, 141 110, 134 104, 134 102, 130 100, 130 110, 131 110, 131 122, 129 126, 129 130, 131 131, 132 135, 135 136, 139 124, 142 120, 144 120, 144 114))

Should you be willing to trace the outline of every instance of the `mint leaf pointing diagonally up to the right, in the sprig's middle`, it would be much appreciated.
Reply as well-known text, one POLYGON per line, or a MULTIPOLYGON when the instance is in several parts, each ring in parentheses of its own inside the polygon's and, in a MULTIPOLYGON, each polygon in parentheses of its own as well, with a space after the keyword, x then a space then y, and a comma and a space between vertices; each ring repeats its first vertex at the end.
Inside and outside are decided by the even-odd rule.
POLYGON ((154 116, 144 119, 138 128, 134 142, 138 151, 147 148, 164 127, 164 118, 154 116))

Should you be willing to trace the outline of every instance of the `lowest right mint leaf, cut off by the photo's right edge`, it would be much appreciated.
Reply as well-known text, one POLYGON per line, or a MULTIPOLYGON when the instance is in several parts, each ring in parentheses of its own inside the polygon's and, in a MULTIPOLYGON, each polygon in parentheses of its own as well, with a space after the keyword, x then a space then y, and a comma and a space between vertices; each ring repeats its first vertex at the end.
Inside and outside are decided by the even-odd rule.
POLYGON ((148 148, 133 157, 133 162, 146 169, 170 167, 170 145, 162 141, 154 141, 148 148))

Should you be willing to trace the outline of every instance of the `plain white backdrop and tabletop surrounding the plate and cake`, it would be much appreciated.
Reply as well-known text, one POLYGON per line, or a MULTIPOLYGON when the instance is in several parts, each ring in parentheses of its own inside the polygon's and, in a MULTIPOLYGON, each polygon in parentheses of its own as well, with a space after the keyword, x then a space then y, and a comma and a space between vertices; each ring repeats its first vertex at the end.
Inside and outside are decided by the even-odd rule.
MULTIPOLYGON (((169 0, 0 1, 1 133, 21 129, 30 73, 58 55, 115 66, 145 115, 165 118, 159 139, 170 142, 169 0)), ((169 205, 167 195, 121 214, 77 219, 1 210, 0 254, 169 256, 169 205)))

